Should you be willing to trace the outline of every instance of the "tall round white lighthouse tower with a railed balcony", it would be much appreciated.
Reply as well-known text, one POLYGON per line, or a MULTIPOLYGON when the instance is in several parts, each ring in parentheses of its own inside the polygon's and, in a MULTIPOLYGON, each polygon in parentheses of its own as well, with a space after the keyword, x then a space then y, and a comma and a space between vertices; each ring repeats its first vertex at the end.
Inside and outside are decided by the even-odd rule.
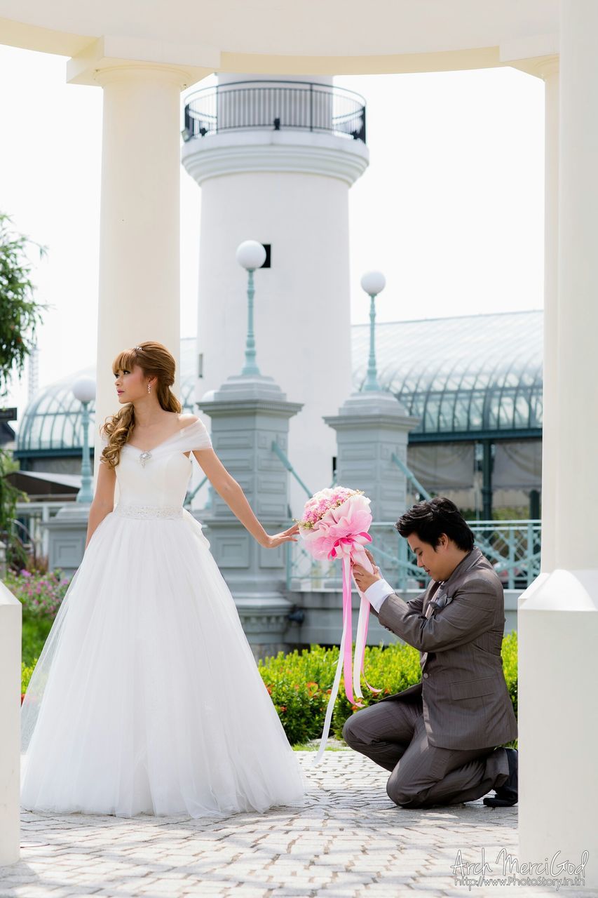
MULTIPOLYGON (((365 101, 329 76, 220 74, 188 98, 185 126, 182 162, 202 189, 198 400, 241 373, 247 273, 235 252, 258 241, 259 370, 303 402, 290 461, 310 490, 328 487, 336 435, 322 416, 352 392, 348 189, 369 160, 365 101)), ((293 480, 293 515, 305 498, 293 480)))

